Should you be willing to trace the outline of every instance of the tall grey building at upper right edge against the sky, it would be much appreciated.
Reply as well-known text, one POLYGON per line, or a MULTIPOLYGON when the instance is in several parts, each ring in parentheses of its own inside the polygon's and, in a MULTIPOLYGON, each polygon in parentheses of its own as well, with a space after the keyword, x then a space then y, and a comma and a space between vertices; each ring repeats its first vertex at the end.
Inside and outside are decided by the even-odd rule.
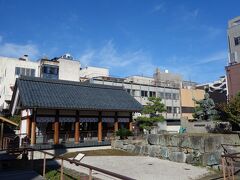
POLYGON ((240 16, 228 22, 229 64, 240 63, 240 16))

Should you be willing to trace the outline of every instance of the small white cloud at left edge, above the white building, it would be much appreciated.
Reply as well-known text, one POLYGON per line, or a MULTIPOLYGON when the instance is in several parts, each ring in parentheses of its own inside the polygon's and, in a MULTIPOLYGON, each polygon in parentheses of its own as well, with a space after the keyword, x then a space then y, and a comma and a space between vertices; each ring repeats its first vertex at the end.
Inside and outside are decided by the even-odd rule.
POLYGON ((2 36, 0 36, 0 56, 20 57, 24 54, 28 54, 34 59, 39 55, 38 47, 35 44, 5 43, 2 39, 2 36))

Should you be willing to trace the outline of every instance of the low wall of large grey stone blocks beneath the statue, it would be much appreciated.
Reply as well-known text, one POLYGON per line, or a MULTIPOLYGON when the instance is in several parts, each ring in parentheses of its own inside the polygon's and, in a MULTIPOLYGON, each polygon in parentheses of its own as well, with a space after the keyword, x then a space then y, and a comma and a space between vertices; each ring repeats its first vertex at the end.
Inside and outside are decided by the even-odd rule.
MULTIPOLYGON (((221 144, 239 144, 238 134, 150 134, 141 140, 115 140, 113 149, 203 166, 220 164, 221 144)), ((235 148, 234 151, 240 151, 235 148)))

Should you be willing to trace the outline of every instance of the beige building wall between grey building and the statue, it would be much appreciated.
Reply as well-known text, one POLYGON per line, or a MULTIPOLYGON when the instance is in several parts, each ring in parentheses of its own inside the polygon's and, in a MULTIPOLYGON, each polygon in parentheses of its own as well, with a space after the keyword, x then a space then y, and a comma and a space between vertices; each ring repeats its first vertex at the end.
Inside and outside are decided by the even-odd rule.
POLYGON ((205 91, 202 89, 195 88, 182 88, 180 90, 181 94, 181 107, 182 107, 182 118, 187 118, 188 120, 193 119, 192 113, 196 107, 195 100, 201 100, 204 98, 205 91))

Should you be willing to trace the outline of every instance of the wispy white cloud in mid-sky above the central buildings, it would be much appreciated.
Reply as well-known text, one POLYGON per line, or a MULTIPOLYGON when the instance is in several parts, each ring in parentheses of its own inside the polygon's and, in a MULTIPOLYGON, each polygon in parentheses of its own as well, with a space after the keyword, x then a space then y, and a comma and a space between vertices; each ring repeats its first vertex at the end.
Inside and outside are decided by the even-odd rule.
POLYGON ((79 58, 81 65, 100 66, 120 76, 152 75, 156 66, 151 57, 142 50, 119 52, 113 41, 99 49, 85 51, 79 58))

